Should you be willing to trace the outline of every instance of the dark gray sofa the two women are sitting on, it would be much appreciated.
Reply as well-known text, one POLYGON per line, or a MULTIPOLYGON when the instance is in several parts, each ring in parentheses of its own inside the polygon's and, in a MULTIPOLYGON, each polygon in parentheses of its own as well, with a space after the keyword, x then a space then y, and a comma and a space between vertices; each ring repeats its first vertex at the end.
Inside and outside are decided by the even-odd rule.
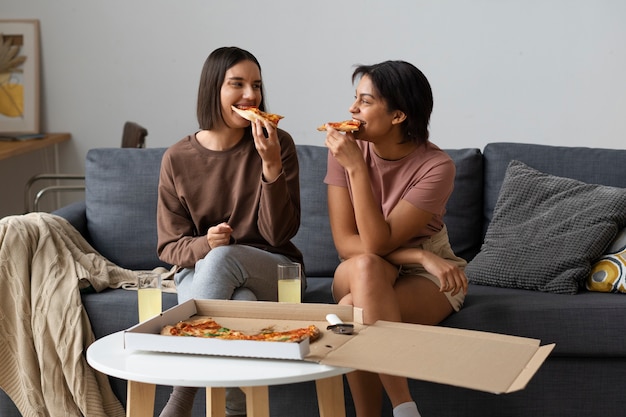
MULTIPOLYGON (((156 187, 164 149, 94 149, 86 161, 86 202, 57 211, 103 255, 132 269, 162 263, 155 253, 156 187)), ((491 143, 480 149, 447 150, 457 166, 446 223, 456 253, 468 261, 481 251, 500 187, 515 159, 540 171, 589 183, 626 188, 626 150, 491 143)), ((295 238, 308 277, 305 302, 332 303, 330 284, 338 260, 326 215, 323 177, 326 149, 298 146, 302 224, 295 238)), ((218 192, 218 191, 216 191, 218 192)), ((84 294, 96 337, 137 321, 136 295, 124 290, 84 294)), ((164 307, 176 304, 164 295, 164 307)), ((537 338, 556 343, 525 390, 493 395, 423 381, 410 381, 426 416, 616 416, 626 413, 626 294, 581 290, 576 295, 471 284, 465 307, 442 323, 537 338)), ((390 346, 391 349, 391 346, 390 346)), ((424 360, 424 358, 415 358, 424 360)), ((125 402, 125 381, 111 378, 125 402)), ((313 383, 270 388, 272 416, 317 415, 313 383), (296 408, 297 407, 297 408, 296 408)), ((158 410, 169 387, 157 390, 158 410)), ((349 390, 348 416, 354 415, 349 390)), ((19 415, 0 398, 0 415, 19 415)), ((14 409, 13 409, 14 410, 14 409)), ((204 415, 203 397, 195 416, 204 415)), ((389 407, 385 416, 391 416, 389 407)))

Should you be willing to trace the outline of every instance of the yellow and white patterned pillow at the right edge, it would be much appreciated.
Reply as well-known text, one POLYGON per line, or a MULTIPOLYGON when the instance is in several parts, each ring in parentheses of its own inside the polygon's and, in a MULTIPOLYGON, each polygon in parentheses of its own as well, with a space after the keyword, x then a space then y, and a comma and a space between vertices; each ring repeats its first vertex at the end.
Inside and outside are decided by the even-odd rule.
POLYGON ((626 293, 626 229, 593 265, 586 286, 589 291, 626 293))

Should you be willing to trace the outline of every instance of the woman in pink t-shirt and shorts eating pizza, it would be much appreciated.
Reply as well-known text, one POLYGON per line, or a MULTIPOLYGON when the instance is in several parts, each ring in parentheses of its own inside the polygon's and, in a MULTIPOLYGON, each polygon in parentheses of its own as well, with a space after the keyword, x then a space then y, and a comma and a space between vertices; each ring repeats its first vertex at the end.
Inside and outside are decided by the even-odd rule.
MULTIPOLYGON (((443 223, 455 166, 428 140, 433 107, 424 74, 403 61, 359 66, 350 113, 360 129, 327 128, 328 209, 342 263, 333 296, 377 320, 435 325, 463 305, 466 262, 443 223)), ((428 360, 428 358, 422 358, 428 360)), ((419 416, 406 378, 353 372, 359 417, 379 416, 382 390, 395 417, 419 416)))

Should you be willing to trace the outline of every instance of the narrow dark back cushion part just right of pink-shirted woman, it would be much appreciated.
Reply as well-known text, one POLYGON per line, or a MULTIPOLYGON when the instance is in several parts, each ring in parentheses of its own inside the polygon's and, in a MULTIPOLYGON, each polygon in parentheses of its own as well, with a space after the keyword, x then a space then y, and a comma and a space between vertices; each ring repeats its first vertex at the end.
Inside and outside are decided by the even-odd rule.
POLYGON ((482 243, 483 156, 480 149, 446 149, 456 166, 443 218, 454 253, 470 261, 482 243))

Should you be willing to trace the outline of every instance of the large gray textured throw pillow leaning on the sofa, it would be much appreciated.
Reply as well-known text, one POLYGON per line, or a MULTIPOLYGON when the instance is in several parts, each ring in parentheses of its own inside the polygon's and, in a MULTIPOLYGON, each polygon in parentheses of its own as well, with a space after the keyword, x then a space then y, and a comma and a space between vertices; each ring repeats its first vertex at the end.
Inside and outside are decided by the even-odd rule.
POLYGON ((626 226, 626 189, 591 185, 511 161, 471 283, 575 294, 626 226))

